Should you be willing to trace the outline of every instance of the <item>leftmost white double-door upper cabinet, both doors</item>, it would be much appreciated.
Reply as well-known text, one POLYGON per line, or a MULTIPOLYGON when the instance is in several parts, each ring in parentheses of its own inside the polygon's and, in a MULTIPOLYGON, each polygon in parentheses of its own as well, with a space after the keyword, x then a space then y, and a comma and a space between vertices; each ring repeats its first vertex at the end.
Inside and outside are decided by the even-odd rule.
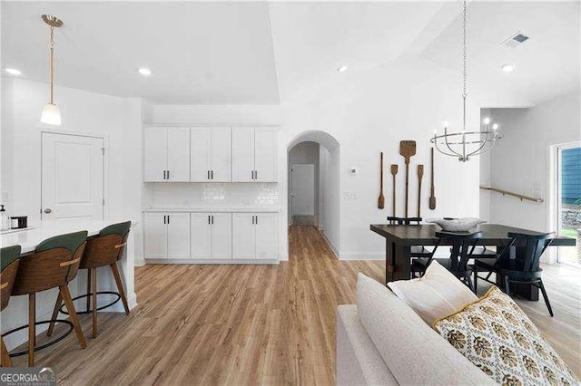
POLYGON ((145 128, 143 180, 145 182, 190 180, 190 128, 145 128))

